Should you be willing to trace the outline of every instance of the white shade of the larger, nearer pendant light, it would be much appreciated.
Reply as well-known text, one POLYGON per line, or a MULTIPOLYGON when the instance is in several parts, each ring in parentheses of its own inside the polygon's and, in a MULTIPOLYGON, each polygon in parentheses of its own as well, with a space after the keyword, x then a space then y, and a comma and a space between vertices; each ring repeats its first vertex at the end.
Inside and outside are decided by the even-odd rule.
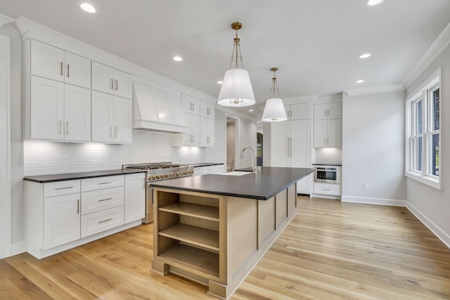
POLYGON ((252 82, 247 70, 231 69, 225 72, 217 103, 235 107, 255 104, 252 82))

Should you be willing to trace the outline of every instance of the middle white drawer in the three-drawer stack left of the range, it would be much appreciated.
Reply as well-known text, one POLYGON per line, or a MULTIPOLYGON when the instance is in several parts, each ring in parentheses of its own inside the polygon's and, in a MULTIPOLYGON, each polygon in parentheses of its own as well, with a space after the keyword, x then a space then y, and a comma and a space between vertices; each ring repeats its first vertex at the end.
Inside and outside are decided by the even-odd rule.
POLYGON ((91 190, 82 193, 82 214, 90 214, 124 204, 124 187, 91 190))

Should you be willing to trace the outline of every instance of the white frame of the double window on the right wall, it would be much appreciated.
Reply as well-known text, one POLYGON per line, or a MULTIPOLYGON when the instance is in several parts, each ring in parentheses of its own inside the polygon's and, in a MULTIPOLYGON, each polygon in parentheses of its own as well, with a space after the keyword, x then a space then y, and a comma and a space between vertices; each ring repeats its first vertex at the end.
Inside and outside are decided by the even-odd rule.
POLYGON ((442 86, 441 69, 439 68, 405 100, 405 176, 432 188, 442 190, 442 86), (434 126, 434 91, 439 89, 439 129, 434 126), (416 113, 417 103, 422 100, 422 132, 418 133, 416 113), (439 134, 437 150, 439 151, 439 175, 431 174, 432 168, 432 136, 439 134), (415 141, 422 141, 421 157, 417 157, 418 146, 415 141), (431 150, 431 151, 430 151, 431 150), (416 163, 420 166, 416 167, 416 163))

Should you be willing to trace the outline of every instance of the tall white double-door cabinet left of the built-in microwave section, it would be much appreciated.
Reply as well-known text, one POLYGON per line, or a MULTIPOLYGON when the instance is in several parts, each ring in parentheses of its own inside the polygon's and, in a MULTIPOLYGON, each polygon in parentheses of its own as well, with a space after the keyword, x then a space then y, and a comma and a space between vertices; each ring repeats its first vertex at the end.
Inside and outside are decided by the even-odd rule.
MULTIPOLYGON (((311 105, 285 105, 288 121, 270 124, 270 166, 309 168, 311 165, 311 105)), ((309 176, 297 183, 297 193, 309 194, 309 176)))

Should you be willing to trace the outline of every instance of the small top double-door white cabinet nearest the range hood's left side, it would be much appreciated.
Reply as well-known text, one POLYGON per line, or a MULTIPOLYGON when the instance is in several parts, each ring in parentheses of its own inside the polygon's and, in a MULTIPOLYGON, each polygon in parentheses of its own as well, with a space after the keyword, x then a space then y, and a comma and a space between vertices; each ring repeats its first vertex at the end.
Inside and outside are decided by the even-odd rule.
POLYGON ((93 61, 92 89, 131 99, 133 96, 133 79, 131 74, 93 61))

